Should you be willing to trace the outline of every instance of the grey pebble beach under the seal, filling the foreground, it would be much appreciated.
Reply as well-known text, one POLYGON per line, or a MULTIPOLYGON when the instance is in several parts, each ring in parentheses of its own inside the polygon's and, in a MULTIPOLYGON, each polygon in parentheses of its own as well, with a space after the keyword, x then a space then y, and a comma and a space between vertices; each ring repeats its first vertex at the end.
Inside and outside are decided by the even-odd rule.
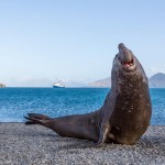
POLYGON ((0 123, 0 165, 165 165, 165 127, 150 127, 132 146, 90 145, 40 125, 0 123))

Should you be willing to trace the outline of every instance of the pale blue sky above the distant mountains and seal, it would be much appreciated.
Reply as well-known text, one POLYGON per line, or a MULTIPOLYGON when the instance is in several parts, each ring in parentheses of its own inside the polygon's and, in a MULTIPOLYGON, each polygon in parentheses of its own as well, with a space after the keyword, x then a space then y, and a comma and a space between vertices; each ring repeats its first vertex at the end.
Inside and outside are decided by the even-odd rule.
POLYGON ((165 73, 164 20, 164 0, 1 0, 0 81, 106 78, 120 42, 165 73))

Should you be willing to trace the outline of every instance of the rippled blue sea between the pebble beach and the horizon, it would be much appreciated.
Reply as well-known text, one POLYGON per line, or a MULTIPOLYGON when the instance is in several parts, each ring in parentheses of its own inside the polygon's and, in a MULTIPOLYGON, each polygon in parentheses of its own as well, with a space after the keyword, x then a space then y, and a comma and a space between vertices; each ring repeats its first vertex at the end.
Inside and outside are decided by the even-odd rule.
MULTIPOLYGON (((0 88, 0 122, 24 122, 29 112, 51 117, 99 109, 108 88, 0 88)), ((152 125, 165 125, 165 89, 150 89, 152 125)))

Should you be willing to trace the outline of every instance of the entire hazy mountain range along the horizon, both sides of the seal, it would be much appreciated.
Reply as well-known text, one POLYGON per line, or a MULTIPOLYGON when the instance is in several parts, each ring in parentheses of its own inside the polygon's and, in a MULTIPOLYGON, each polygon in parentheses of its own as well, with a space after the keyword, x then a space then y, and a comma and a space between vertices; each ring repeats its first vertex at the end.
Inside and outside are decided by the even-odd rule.
MULTIPOLYGON (((8 84, 8 87, 52 87, 55 80, 51 79, 15 79, 8 84)), ((66 87, 96 87, 96 88, 110 88, 111 78, 105 78, 91 82, 89 80, 63 80, 66 87)), ((0 84, 2 87, 3 84, 0 84)), ((157 73, 148 78, 150 88, 165 88, 165 74, 157 73)))

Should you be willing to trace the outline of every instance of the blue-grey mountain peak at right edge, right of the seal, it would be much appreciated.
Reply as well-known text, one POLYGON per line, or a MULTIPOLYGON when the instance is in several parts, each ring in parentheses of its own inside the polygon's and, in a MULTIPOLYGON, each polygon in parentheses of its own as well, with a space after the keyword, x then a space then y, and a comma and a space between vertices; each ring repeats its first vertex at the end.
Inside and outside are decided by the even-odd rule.
POLYGON ((157 73, 148 79, 150 88, 165 88, 165 74, 157 73))

